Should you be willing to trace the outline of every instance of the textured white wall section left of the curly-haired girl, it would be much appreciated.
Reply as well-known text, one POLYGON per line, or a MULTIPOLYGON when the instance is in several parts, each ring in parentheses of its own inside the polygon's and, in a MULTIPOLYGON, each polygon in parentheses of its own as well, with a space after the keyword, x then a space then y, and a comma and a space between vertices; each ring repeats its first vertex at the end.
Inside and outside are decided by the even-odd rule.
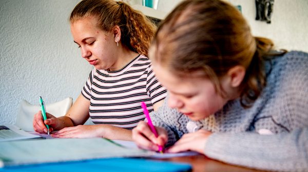
POLYGON ((0 124, 15 123, 21 99, 50 103, 80 94, 92 67, 70 34, 78 2, 0 1, 0 124))

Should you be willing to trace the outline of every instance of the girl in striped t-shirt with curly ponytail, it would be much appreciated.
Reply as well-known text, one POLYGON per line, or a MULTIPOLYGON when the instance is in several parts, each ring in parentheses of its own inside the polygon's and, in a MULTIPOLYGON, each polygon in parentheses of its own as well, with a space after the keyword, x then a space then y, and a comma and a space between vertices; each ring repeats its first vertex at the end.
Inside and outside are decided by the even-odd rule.
POLYGON ((142 13, 123 2, 84 0, 70 15, 71 33, 81 54, 94 69, 68 113, 56 118, 41 111, 33 119, 34 131, 52 137, 131 140, 133 127, 144 114, 162 104, 166 90, 161 86, 146 57, 155 32, 142 13), (95 125, 82 125, 88 118, 95 125))

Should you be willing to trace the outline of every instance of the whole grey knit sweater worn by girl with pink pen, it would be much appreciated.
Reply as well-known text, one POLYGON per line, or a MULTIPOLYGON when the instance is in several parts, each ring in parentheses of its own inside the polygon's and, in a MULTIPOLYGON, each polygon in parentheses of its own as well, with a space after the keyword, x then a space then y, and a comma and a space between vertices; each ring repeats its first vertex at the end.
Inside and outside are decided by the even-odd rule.
POLYGON ((265 170, 308 171, 308 54, 286 53, 266 61, 265 69, 267 85, 248 109, 236 99, 204 120, 190 121, 169 109, 166 99, 151 113, 152 122, 166 128, 167 146, 193 126, 214 133, 204 145, 210 158, 265 170))

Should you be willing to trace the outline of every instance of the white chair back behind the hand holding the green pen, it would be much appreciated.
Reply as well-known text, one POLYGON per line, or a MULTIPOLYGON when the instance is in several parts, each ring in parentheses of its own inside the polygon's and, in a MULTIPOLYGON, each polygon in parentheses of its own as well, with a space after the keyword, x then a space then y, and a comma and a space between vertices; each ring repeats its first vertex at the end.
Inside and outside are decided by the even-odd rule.
MULTIPOLYGON (((38 99, 37 99, 38 102, 38 99)), ((55 117, 64 116, 69 108, 72 106, 73 99, 71 97, 65 98, 50 104, 45 104, 46 111, 55 117)), ((26 100, 22 100, 17 113, 16 126, 22 128, 24 131, 33 132, 32 121, 34 114, 41 111, 40 105, 30 104, 26 100)))

